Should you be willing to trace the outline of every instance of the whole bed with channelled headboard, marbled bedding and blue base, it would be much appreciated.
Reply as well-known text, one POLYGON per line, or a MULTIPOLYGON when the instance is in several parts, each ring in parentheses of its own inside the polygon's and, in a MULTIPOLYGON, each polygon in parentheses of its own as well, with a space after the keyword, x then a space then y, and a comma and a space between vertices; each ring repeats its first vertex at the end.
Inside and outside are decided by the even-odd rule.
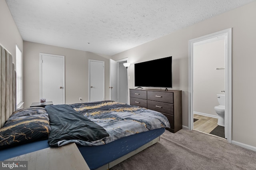
MULTIPOLYGON (((1 67, 3 57, 12 64, 8 51, 1 51, 1 67)), ((90 169, 108 169, 158 142, 170 127, 161 113, 115 101, 15 111, 14 66, 6 70, 12 73, 1 73, 1 79, 14 77, 5 78, 9 87, 1 85, 6 93, 1 93, 0 160, 75 142, 90 169)))

